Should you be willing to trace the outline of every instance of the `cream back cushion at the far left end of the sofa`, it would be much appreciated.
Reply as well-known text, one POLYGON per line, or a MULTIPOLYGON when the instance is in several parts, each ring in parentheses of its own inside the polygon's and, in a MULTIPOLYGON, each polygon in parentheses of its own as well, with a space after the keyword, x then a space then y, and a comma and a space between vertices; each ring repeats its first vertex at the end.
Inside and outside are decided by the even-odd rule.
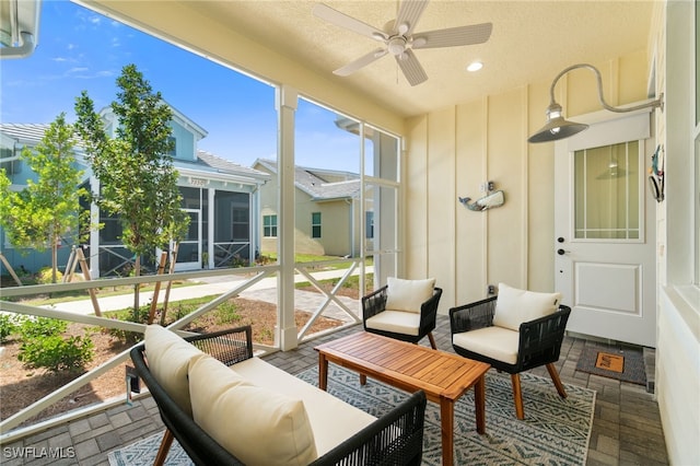
POLYGON ((205 353, 160 325, 145 327, 143 341, 151 374, 173 400, 191 416, 187 368, 191 359, 201 358, 205 353))

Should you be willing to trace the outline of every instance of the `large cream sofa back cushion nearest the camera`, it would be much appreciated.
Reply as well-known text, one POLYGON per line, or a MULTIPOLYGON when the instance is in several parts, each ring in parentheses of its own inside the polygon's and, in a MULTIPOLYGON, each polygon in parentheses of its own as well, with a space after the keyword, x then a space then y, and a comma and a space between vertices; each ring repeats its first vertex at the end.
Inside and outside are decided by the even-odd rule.
POLYGON ((304 466, 316 459, 301 399, 255 386, 210 357, 190 364, 189 391, 195 422, 243 463, 304 466))

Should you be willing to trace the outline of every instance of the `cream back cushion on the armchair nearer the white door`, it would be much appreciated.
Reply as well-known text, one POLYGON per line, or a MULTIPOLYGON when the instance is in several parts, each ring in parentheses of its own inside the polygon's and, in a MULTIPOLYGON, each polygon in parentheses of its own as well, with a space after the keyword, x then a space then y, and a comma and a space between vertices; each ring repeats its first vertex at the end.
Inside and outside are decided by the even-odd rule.
POLYGON ((561 293, 539 293, 499 283, 493 325, 518 331, 522 323, 557 311, 560 301, 561 293))

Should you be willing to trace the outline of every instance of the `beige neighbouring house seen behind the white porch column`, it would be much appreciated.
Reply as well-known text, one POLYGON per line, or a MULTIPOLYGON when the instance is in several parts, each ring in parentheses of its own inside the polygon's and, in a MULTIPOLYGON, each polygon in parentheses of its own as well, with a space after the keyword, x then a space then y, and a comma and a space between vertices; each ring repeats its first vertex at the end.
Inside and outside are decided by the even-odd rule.
MULTIPOLYGON (((277 252, 277 162, 258 159, 253 167, 270 174, 260 189, 261 252, 277 252)), ((294 167, 294 246, 298 254, 326 256, 360 255, 360 240, 373 234, 373 211, 363 211, 357 173, 294 167), (361 218, 364 215, 364 231, 361 218)), ((371 247, 371 246, 368 246, 371 247)))

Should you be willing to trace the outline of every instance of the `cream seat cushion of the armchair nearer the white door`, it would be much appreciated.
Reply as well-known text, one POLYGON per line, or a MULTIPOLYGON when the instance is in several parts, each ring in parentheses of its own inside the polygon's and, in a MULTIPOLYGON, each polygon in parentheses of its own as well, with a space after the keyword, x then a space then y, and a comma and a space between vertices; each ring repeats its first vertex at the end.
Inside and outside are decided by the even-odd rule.
POLYGON ((459 348, 483 354, 508 364, 517 362, 520 333, 503 327, 485 327, 454 334, 452 342, 459 348))

